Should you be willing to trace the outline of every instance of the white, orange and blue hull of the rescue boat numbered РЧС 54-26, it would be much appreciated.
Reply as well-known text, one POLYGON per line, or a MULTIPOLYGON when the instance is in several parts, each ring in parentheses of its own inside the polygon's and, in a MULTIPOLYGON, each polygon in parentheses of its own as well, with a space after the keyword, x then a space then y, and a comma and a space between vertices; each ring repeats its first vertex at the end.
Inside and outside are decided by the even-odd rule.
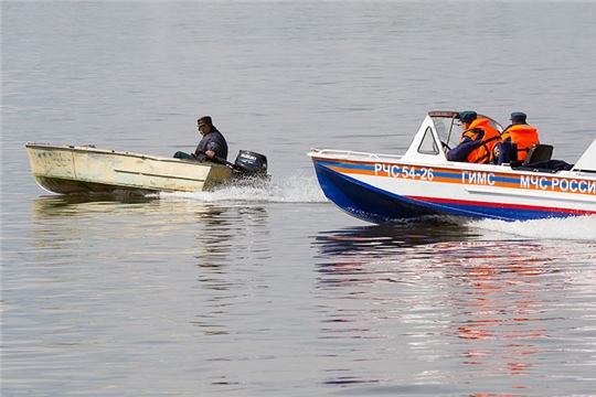
POLYGON ((437 216, 525 221, 596 215, 594 178, 310 155, 324 195, 350 215, 371 223, 437 216))

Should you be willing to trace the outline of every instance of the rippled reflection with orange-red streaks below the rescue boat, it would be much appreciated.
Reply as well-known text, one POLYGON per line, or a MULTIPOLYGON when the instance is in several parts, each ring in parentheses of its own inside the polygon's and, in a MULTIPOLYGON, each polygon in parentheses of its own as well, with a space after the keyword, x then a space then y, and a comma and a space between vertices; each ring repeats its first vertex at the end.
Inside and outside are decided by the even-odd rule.
POLYGON ((553 350, 577 343, 584 343, 577 351, 586 348, 563 330, 593 310, 576 313, 572 302, 555 299, 561 290, 579 301, 594 296, 593 270, 582 267, 594 265, 594 246, 488 237, 453 225, 369 226, 316 236, 317 294, 324 302, 320 339, 350 363, 329 368, 324 383, 429 384, 451 376, 473 384, 523 375, 508 378, 519 393, 540 386, 528 377, 533 371, 558 376, 553 350), (587 282, 577 278, 582 273, 587 282), (342 340, 353 339, 370 354, 341 350, 342 340), (386 366, 362 371, 356 356, 386 366), (428 371, 437 361, 450 363, 453 373, 428 371))

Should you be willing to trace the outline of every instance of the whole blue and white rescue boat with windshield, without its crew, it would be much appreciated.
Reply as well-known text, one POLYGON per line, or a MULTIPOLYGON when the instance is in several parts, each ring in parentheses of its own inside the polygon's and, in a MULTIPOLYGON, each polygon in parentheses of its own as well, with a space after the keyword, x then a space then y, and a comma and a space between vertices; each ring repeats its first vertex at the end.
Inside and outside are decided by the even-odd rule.
MULTIPOLYGON (((596 215, 596 139, 573 165, 551 160, 552 147, 542 144, 524 163, 454 162, 446 150, 461 136, 458 117, 457 111, 430 111, 403 155, 316 148, 308 155, 324 195, 375 224, 444 216, 526 221, 596 215)), ((479 117, 502 131, 497 121, 479 117)))

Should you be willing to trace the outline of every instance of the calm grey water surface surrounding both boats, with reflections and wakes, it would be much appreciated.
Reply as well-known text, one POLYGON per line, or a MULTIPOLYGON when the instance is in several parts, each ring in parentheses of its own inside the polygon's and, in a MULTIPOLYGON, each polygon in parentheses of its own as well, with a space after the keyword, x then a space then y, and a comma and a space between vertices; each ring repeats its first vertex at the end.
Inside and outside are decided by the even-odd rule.
POLYGON ((375 226, 310 147, 428 110, 596 137, 596 3, 2 2, 3 396, 589 396, 596 219, 375 226), (272 184, 60 197, 24 143, 170 155, 211 115, 272 184))

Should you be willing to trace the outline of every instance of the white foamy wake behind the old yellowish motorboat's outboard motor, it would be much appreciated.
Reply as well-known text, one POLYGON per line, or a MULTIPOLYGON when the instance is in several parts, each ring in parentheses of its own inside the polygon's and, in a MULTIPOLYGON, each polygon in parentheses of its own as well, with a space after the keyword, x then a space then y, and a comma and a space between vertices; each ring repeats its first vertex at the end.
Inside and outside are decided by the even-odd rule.
POLYGON ((159 193, 160 198, 191 198, 206 203, 327 203, 316 176, 302 174, 272 178, 269 182, 252 185, 228 185, 212 192, 159 193))

